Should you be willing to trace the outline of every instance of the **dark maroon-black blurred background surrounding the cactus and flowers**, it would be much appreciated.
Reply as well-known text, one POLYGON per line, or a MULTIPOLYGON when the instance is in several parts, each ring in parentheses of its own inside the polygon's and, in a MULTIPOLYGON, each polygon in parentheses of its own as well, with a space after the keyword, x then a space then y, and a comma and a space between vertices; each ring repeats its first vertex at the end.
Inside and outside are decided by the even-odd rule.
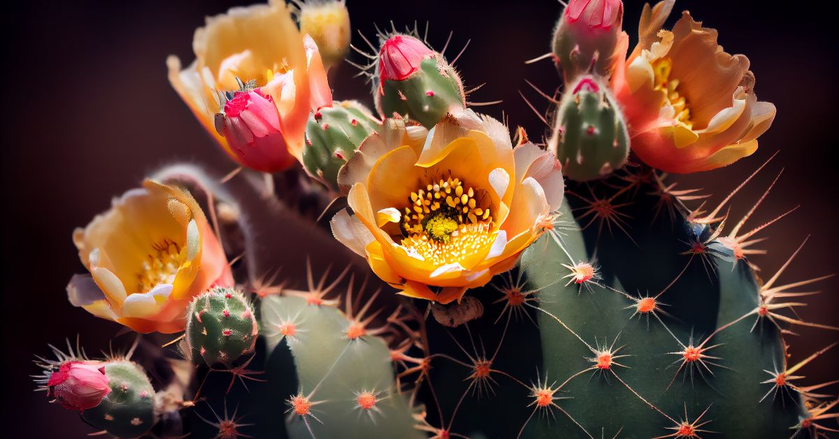
MULTIPOLYGON (((13 2, 4 6, 3 60, 6 87, 3 127, 3 436, 83 437, 90 429, 76 414, 46 404, 34 393, 29 374, 39 373, 32 355, 47 353, 81 333, 91 352, 107 348, 118 327, 87 315, 66 300, 70 276, 84 269, 70 241, 109 206, 112 196, 137 186, 143 176, 178 160, 206 165, 218 173, 233 169, 166 80, 166 55, 188 64, 192 33, 204 16, 247 2, 13 2)), ((354 29, 368 37, 373 24, 413 27, 430 23, 430 43, 440 49, 454 31, 449 59, 468 39, 457 60, 467 87, 486 82, 472 101, 503 100, 483 107, 511 127, 523 125, 538 139, 545 127, 519 97, 524 91, 540 109, 548 102, 524 83, 527 78, 549 93, 560 83, 550 61, 524 65, 549 50, 560 4, 550 0, 491 3, 482 0, 362 2, 348 0, 354 29)), ((624 28, 632 36, 642 2, 625 3, 624 28)), ((753 218, 758 225, 791 206, 792 216, 769 227, 763 248, 753 258, 764 276, 784 263, 811 235, 804 251, 782 280, 796 281, 835 273, 839 232, 836 217, 836 36, 831 14, 815 3, 773 6, 757 0, 678 2, 707 26, 719 29, 729 52, 745 53, 757 76, 761 100, 774 102, 778 117, 760 139, 760 149, 727 169, 679 177, 680 186, 703 187, 719 201, 776 151, 778 157, 735 199, 732 214, 756 201, 774 174, 779 185, 753 218)), ((672 21, 672 20, 671 20, 672 21)), ((362 47, 357 34, 353 43, 362 47)), ((633 40, 634 44, 634 40, 633 40)), ((362 62, 357 54, 352 59, 362 62)), ((342 65, 331 81, 338 99, 370 102, 363 78, 342 65)), ((294 244, 294 243, 289 243, 294 244)), ((300 258, 300 261, 303 259, 300 258)), ((302 262, 300 263, 302 264, 302 262)), ((300 269, 292 266, 292 269, 300 269)), ((823 294, 800 308, 806 321, 836 325, 837 285, 817 285, 823 294)), ((805 358, 836 339, 836 332, 798 330, 790 337, 792 360, 805 358)), ((121 337, 117 344, 130 342, 121 337)), ((809 383, 836 378, 836 351, 801 372, 809 383)))

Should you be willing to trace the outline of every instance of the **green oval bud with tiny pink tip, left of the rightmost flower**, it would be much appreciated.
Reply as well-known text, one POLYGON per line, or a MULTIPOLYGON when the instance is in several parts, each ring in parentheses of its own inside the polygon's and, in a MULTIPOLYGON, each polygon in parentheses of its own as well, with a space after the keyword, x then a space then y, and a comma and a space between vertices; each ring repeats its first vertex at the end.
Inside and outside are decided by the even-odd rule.
POLYGON ((595 180, 626 163, 626 123, 607 89, 593 76, 582 77, 558 104, 549 145, 562 173, 571 180, 595 180))

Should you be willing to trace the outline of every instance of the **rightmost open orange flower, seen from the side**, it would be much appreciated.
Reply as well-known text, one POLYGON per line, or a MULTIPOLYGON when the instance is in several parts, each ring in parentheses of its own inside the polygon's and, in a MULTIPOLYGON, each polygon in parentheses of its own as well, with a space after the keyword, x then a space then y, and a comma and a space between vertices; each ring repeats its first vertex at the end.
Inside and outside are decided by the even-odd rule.
POLYGON ((644 8, 638 46, 612 77, 631 147, 665 172, 730 165, 758 149, 775 107, 758 102, 748 58, 724 52, 716 30, 687 12, 672 31, 661 30, 672 6, 644 8))

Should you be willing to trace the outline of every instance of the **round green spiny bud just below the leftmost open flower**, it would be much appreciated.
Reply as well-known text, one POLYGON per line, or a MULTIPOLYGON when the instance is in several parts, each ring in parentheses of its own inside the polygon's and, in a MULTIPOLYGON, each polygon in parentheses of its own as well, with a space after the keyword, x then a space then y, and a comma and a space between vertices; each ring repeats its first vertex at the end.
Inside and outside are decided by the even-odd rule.
POLYGON ((253 308, 242 292, 214 287, 195 296, 186 322, 186 345, 196 364, 230 366, 253 352, 258 328, 253 308))

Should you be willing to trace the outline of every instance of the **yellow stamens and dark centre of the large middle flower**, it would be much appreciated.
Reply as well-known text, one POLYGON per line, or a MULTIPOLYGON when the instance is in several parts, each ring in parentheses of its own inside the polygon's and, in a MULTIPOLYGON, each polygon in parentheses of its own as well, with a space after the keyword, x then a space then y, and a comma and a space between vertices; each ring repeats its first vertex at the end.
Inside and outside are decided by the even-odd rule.
POLYGON ((411 192, 402 243, 434 264, 451 264, 492 243, 492 216, 460 179, 439 180, 411 192))

